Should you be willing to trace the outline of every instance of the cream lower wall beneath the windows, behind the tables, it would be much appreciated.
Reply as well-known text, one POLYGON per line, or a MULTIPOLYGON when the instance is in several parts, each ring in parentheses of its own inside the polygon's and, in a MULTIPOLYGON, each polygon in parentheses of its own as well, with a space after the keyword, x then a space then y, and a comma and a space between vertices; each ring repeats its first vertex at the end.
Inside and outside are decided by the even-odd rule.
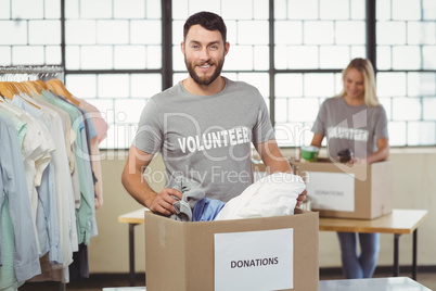
MULTIPOLYGON (((293 155, 293 151, 283 151, 293 155)), ((97 211, 99 236, 91 239, 89 265, 91 273, 128 273, 128 226, 117 222, 119 215, 141 206, 125 191, 120 175, 125 165, 124 151, 102 152, 104 205, 97 211)), ((436 149, 394 149, 394 207, 428 210, 427 219, 418 230, 418 264, 436 265, 436 149)), ((161 157, 151 167, 162 173, 161 157)), ((163 182, 154 186, 162 189, 163 182)), ((320 266, 339 267, 339 248, 335 232, 320 232, 320 266)), ((381 236, 379 266, 392 266, 394 262, 394 236, 381 236)), ((399 239, 400 265, 411 265, 412 236, 399 239)), ((145 270, 144 229, 136 227, 136 268, 145 270)))

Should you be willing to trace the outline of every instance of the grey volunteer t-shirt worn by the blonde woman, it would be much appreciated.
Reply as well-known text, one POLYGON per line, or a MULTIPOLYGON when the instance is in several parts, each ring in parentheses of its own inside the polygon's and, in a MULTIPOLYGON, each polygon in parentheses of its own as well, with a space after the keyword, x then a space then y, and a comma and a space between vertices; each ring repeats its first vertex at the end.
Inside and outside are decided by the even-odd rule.
POLYGON ((344 98, 330 98, 322 103, 312 131, 326 137, 331 157, 345 149, 367 157, 376 151, 379 138, 388 138, 386 112, 382 105, 351 106, 344 98))

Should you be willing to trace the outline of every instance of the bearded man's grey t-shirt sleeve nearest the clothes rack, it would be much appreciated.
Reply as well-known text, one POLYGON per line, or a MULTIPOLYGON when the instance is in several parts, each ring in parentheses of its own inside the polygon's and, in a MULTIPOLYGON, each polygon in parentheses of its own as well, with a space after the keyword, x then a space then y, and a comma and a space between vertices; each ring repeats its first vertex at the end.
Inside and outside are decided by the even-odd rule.
POLYGON ((156 103, 151 99, 141 113, 132 144, 143 152, 154 154, 161 150, 162 143, 162 116, 157 111, 156 103))

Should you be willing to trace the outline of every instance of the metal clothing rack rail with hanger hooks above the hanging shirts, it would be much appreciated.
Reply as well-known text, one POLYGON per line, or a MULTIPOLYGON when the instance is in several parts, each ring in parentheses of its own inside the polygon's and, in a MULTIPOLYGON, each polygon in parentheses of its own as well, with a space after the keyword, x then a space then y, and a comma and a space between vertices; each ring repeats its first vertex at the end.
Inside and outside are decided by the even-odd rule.
MULTIPOLYGON (((64 79, 64 68, 60 65, 17 65, 0 66, 0 81, 42 81, 59 78, 64 79)), ((60 291, 66 290, 66 283, 60 282, 60 291)))

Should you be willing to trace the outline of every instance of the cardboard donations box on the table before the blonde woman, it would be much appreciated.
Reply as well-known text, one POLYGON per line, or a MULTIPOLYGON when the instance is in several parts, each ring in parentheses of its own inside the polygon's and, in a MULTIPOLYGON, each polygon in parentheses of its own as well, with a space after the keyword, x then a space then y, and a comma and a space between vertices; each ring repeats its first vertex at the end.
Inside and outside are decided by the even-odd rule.
POLYGON ((311 211, 320 217, 373 219, 392 213, 393 164, 291 163, 306 182, 311 211))

